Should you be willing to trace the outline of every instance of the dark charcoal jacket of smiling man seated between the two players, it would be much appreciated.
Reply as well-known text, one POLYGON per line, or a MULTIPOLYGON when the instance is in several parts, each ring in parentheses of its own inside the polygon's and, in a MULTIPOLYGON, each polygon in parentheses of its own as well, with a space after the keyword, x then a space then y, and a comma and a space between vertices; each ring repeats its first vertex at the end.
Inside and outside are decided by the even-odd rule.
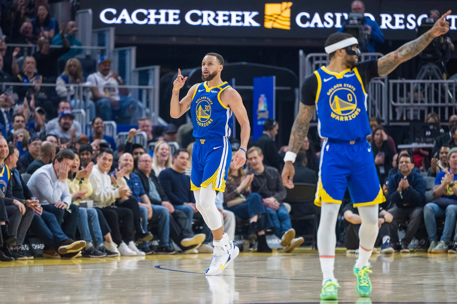
POLYGON ((249 170, 247 174, 254 173, 254 179, 251 183, 251 192, 257 192, 262 198, 273 196, 279 202, 284 201, 287 192, 286 187, 282 185, 282 178, 276 168, 265 166, 262 173, 249 170))

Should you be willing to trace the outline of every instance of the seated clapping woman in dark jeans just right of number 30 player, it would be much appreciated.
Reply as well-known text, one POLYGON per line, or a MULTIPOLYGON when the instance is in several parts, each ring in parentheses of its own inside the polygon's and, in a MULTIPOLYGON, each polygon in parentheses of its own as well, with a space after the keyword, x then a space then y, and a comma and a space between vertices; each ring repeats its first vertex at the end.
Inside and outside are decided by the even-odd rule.
POLYGON ((258 193, 251 192, 254 174, 246 175, 243 167, 235 168, 234 155, 233 152, 223 194, 223 206, 241 219, 249 219, 248 238, 251 242, 258 242, 257 252, 271 252, 266 242, 265 230, 273 227, 273 224, 266 212, 262 197, 258 193))

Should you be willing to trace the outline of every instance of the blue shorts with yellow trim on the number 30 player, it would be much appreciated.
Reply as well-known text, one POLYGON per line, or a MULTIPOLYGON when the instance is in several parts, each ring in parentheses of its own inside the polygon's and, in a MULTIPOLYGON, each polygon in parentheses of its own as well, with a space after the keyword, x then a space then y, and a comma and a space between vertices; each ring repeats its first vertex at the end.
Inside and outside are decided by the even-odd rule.
POLYGON ((191 190, 213 185, 214 190, 225 191, 232 147, 228 138, 195 139, 192 149, 191 190))

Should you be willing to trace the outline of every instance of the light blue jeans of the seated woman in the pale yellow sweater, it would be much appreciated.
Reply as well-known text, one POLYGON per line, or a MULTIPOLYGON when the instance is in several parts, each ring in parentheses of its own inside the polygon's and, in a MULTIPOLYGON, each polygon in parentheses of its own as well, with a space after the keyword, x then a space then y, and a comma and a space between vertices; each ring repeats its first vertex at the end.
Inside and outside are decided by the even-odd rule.
POLYGON ((94 245, 103 243, 103 235, 98 222, 98 214, 94 208, 80 207, 80 218, 78 219, 78 230, 81 239, 86 242, 93 242, 92 235, 95 237, 94 245), (92 235, 91 235, 92 234, 92 235))

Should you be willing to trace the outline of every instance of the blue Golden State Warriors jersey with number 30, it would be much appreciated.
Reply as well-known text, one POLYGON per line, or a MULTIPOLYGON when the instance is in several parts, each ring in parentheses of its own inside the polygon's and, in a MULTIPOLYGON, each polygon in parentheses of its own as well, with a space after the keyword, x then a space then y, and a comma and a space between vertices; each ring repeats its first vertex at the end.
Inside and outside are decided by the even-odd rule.
POLYGON ((191 102, 191 119, 196 139, 229 137, 232 134, 232 110, 221 101, 221 93, 230 88, 227 82, 208 88, 207 82, 195 89, 191 102))

